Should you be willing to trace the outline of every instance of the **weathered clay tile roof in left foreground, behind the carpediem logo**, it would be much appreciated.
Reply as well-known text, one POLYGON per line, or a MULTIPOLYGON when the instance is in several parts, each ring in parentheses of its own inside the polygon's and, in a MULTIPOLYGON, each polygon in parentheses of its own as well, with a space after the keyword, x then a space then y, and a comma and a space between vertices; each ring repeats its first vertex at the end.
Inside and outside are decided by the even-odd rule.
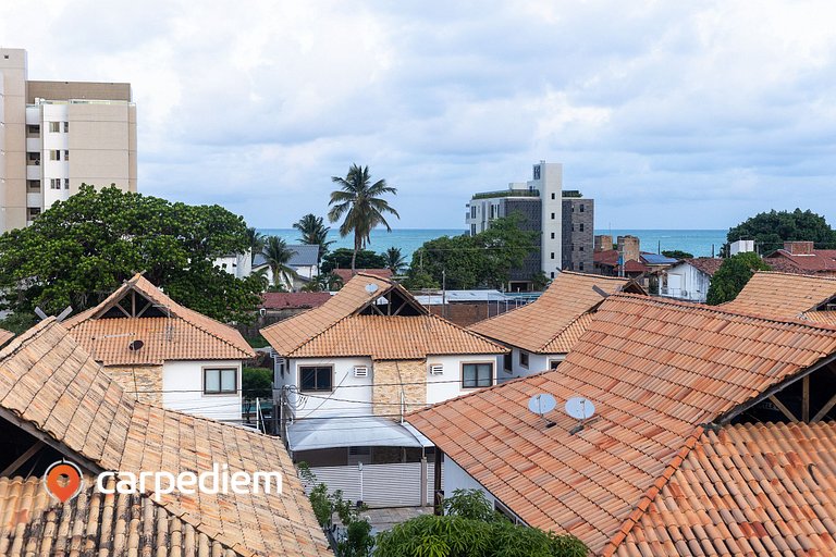
MULTIPOLYGON (((162 494, 160 502, 152 506, 143 500, 138 504, 148 512, 156 512, 156 520, 150 516, 143 517, 146 529, 142 535, 168 529, 171 539, 142 542, 135 537, 125 541, 120 536, 114 542, 106 535, 88 539, 85 543, 94 544, 96 555, 134 555, 131 544, 150 543, 158 547, 149 550, 149 555, 188 555, 175 546, 175 541, 181 540, 174 534, 177 530, 186 534, 177 542, 183 545, 194 543, 187 535, 193 531, 198 534, 201 545, 217 546, 219 552, 221 548, 234 552, 212 555, 331 555, 280 440, 135 401, 53 319, 36 325, 0 351, 0 412, 22 429, 50 437, 62 447, 67 459, 94 472, 199 472, 211 470, 212 463, 217 462, 229 465, 230 473, 279 471, 282 474, 282 494, 263 491, 244 495, 201 493, 199 496, 171 493, 162 494), (111 543, 119 542, 128 547, 120 552, 114 549, 111 554, 101 553, 110 550, 111 543), (171 553, 160 554, 167 548, 171 553)), ((104 499, 106 506, 112 503, 112 498, 104 499)), ((82 499, 77 500, 81 505, 82 499)), ((38 523, 42 518, 35 508, 42 506, 33 507, 29 519, 38 523)), ((63 512, 67 510, 75 512, 67 507, 63 512)), ((136 510, 132 509, 132 519, 139 518, 136 510)), ((103 511, 109 512, 108 509, 103 511)), ((79 509, 78 512, 87 510, 79 509)), ((5 516, 0 509, 0 517, 5 516)), ((82 516, 83 520, 77 520, 81 518, 77 515, 59 519, 76 520, 73 531, 93 528, 88 516, 82 516)), ((106 517, 100 525, 104 529, 109 525, 108 520, 118 523, 120 518, 124 518, 122 511, 115 517, 106 517)), ((57 518, 48 515, 46 520, 54 522, 57 518)), ((137 527, 128 525, 128 531, 135 531, 137 527)), ((40 542, 38 531, 32 532, 28 535, 40 542)), ((58 535, 62 535, 61 532, 58 535)), ((208 555, 207 550, 207 547, 201 548, 199 555, 208 555)))

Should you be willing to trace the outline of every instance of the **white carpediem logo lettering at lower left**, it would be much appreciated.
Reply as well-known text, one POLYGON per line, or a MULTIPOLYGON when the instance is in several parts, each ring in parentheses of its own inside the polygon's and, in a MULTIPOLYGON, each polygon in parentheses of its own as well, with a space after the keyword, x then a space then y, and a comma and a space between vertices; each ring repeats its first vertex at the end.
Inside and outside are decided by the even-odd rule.
POLYGON ((201 472, 183 471, 177 474, 168 471, 156 472, 102 472, 96 478, 96 487, 103 494, 153 493, 153 499, 159 502, 162 495, 180 493, 183 495, 228 494, 243 495, 248 493, 282 493, 282 474, 280 472, 230 472, 228 465, 214 462, 211 470, 201 472), (115 484, 109 486, 110 479, 115 484))

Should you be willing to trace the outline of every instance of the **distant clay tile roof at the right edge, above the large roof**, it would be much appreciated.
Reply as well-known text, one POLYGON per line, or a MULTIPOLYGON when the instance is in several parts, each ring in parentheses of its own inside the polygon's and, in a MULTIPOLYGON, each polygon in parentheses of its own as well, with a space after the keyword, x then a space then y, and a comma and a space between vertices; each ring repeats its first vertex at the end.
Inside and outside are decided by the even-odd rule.
POLYGON ((728 311, 795 319, 836 297, 836 277, 758 271, 732 301, 728 311))

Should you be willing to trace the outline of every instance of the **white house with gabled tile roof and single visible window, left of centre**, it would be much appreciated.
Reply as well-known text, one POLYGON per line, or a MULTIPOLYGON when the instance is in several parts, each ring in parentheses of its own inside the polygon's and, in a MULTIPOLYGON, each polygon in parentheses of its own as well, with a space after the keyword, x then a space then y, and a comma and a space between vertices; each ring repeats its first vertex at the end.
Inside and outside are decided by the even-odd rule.
POLYGON ((241 421, 241 372, 253 348, 236 330, 181 306, 142 275, 64 325, 138 400, 241 421))

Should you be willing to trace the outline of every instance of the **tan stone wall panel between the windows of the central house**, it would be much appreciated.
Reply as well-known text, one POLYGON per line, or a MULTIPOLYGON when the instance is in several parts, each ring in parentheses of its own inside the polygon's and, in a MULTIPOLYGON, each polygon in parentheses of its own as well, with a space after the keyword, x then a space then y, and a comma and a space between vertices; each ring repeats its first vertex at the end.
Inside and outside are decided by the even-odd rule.
POLYGON ((404 412, 427 404, 427 360, 374 361, 374 384, 371 401, 374 414, 397 414, 401 393, 405 396, 404 412))

